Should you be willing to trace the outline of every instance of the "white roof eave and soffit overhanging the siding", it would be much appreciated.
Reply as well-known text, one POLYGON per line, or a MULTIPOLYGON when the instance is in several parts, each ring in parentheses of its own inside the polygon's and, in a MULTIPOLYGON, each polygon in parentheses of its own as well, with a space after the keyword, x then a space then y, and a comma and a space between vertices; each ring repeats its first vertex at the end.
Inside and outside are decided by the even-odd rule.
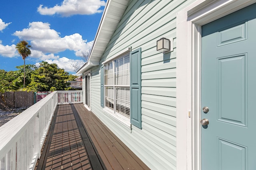
POLYGON ((102 57, 119 21, 121 20, 129 0, 108 0, 100 20, 88 62, 76 73, 82 74, 92 66, 99 65, 102 57))

